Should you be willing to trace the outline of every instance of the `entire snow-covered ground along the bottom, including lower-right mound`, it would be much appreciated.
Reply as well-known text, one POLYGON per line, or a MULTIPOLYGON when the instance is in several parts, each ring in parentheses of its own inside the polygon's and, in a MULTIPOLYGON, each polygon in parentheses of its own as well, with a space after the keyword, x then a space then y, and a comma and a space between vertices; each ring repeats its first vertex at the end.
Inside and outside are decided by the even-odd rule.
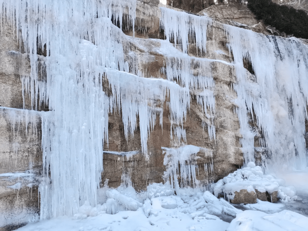
POLYGON ((141 193, 125 184, 117 189, 104 186, 98 191, 96 207, 85 202, 73 217, 61 216, 29 223, 18 230, 303 231, 308 227, 308 217, 288 210, 290 207, 285 203, 257 200, 257 204, 237 205, 235 208, 209 191, 179 190, 180 193, 175 195, 168 183, 150 184, 147 191, 141 193))

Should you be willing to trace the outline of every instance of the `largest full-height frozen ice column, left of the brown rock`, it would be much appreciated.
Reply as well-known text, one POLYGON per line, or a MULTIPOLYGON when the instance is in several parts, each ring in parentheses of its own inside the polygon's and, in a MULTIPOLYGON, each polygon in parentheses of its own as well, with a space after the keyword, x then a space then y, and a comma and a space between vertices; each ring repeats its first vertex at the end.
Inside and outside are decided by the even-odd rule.
POLYGON ((136 2, 4 0, 0 5, 1 18, 13 30, 17 26, 14 36, 29 53, 31 74, 21 76, 23 90, 33 106, 39 100, 51 110, 41 113, 45 180, 39 188, 40 216, 73 215, 84 201, 97 203, 110 110, 103 75, 125 68, 122 32, 110 18, 122 26, 126 11, 123 20, 134 28, 136 2), (40 59, 47 79, 39 74, 37 37, 39 47, 46 44, 47 56, 40 59))

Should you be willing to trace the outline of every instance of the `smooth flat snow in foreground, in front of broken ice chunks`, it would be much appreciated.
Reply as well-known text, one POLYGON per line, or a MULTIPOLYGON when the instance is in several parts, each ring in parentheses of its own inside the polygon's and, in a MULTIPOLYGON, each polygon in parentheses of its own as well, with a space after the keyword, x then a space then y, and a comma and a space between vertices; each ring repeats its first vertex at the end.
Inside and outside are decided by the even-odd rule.
POLYGON ((99 214, 96 217, 85 217, 84 219, 72 219, 67 217, 58 217, 51 220, 44 220, 38 223, 26 225, 18 230, 20 231, 149 231, 149 230, 196 230, 196 231, 225 231, 229 223, 222 220, 212 219, 193 219, 189 214, 179 211, 160 212, 156 217, 147 218, 143 209, 137 211, 121 211, 114 215, 99 214))

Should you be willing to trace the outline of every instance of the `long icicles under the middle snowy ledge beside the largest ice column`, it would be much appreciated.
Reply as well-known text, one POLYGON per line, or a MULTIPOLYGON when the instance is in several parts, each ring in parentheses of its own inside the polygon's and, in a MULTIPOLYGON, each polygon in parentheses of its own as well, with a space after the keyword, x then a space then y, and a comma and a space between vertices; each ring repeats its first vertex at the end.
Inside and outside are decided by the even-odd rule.
MULTIPOLYGON (((125 137, 128 139, 129 136, 134 136, 139 115, 142 152, 147 156, 151 123, 154 123, 153 118, 157 115, 162 115, 162 105, 166 95, 170 100, 168 102, 170 120, 182 125, 190 103, 189 90, 164 79, 142 78, 112 69, 105 71, 113 94, 111 107, 122 110, 125 137), (156 102, 160 102, 159 107, 156 102)), ((186 133, 179 129, 174 129, 176 137, 183 137, 186 140, 186 133)))

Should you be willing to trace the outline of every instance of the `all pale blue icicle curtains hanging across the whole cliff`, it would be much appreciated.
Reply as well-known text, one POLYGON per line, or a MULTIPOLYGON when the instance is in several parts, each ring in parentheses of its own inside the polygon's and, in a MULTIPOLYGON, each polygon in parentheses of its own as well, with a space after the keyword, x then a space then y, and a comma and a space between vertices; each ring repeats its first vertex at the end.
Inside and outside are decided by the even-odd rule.
MULTIPOLYGON (((130 67, 124 59, 122 43, 127 36, 121 28, 134 30, 134 0, 2 0, 0 5, 3 6, 1 19, 7 17, 13 30, 17 26, 14 36, 24 42, 22 49, 29 54, 30 76, 21 76, 24 94, 30 95, 33 109, 40 110, 38 105, 42 103, 50 109, 40 113, 44 169, 39 188, 41 218, 73 215, 83 205, 82 209, 95 207, 103 171, 103 141, 108 143, 108 113, 121 110, 127 140, 134 136, 139 118, 142 152, 147 156, 148 134, 157 117, 162 125, 162 104, 166 98, 170 136, 179 147, 162 148, 168 165, 166 176, 171 178, 171 184, 177 183, 172 178, 180 174, 181 186, 198 185, 196 154, 202 148, 182 145, 186 142, 183 123, 194 95, 205 114, 203 126, 209 138, 216 139, 215 82, 209 65, 211 60, 191 58, 187 53, 190 43, 196 43, 198 54, 206 53, 211 19, 160 8, 160 25, 167 37, 167 41, 161 42, 162 50, 171 46, 170 40, 175 47, 179 44, 182 51, 164 54, 165 68, 161 70, 164 79, 153 79, 143 78, 142 71, 130 67), (111 23, 111 18, 120 28, 111 23), (46 57, 38 58, 37 43, 42 49, 46 44, 46 57), (204 72, 193 73, 192 66, 204 72), (105 81, 109 83, 111 95, 102 89, 105 81)), ((248 125, 249 112, 256 116, 264 136, 259 139, 260 146, 266 146, 272 153, 271 160, 264 159, 264 163, 306 167, 303 133, 307 118, 308 48, 296 39, 265 36, 228 25, 225 34, 230 56, 234 58, 227 64, 236 70, 237 83, 233 88, 238 99, 234 104, 243 136, 245 164, 254 160, 255 151, 255 134, 248 125), (247 77, 243 58, 251 62, 255 80, 247 77)), ((28 114, 25 116, 27 121, 28 114)), ((15 131, 19 117, 12 112, 10 118, 15 131)), ((18 142, 15 143, 18 150, 18 142)), ((213 171, 213 162, 204 167, 206 172, 213 171)), ((260 169, 256 171, 261 174, 260 169)), ((180 192, 180 185, 172 187, 180 192)), ((110 192, 109 197, 110 213, 116 209, 116 200, 122 204, 132 202, 115 192, 110 192)), ((133 202, 134 209, 141 206, 133 202)), ((221 205, 219 210, 225 207, 221 205)), ((235 214, 233 208, 225 210, 230 209, 235 214)), ((205 211, 209 210, 202 213, 205 211)))

